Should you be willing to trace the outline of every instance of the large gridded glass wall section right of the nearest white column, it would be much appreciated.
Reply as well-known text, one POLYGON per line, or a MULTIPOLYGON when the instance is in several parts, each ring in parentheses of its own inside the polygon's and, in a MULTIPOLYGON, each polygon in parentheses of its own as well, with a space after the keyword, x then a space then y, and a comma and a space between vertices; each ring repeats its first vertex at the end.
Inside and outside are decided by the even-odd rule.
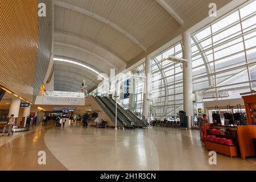
POLYGON ((193 90, 205 100, 256 87, 256 1, 192 35, 193 90))

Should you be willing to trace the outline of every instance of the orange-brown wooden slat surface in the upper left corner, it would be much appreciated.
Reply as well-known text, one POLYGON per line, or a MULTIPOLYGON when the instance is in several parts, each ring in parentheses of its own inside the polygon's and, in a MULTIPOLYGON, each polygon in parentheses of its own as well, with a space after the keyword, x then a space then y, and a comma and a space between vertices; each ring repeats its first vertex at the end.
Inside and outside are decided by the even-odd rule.
POLYGON ((38 2, 0 1, 0 85, 32 102, 38 49, 38 2))

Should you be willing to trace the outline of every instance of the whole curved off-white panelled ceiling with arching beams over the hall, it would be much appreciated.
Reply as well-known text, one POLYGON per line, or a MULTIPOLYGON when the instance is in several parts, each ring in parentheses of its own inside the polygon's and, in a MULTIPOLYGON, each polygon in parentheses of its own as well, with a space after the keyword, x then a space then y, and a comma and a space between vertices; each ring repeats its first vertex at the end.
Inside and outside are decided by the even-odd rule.
MULTIPOLYGON (((136 57, 169 42, 172 32, 206 18, 210 2, 220 8, 230 1, 54 0, 54 55, 79 60, 108 75, 111 68, 121 72, 136 57)), ((71 76, 65 73, 67 65, 55 64, 55 90, 76 92, 79 79, 93 79, 86 69, 73 70, 71 76)))

